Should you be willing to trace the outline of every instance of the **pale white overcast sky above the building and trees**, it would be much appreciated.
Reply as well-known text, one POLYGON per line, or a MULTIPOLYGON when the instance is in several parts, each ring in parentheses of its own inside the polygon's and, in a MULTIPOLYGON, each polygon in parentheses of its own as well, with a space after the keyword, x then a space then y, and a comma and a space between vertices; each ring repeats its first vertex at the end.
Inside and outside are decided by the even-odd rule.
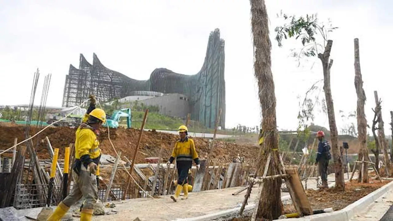
MULTIPOLYGON (((389 0, 266 0, 272 39, 272 72, 279 129, 296 129, 298 96, 323 78, 320 61, 290 57, 295 41, 277 47, 276 14, 318 13, 339 29, 331 34, 332 96, 338 130, 339 110, 356 110, 353 39, 360 40, 360 63, 371 125, 373 91, 382 98, 385 133, 391 134, 393 110, 391 52, 393 3, 389 0), (312 66, 313 62, 314 65, 312 66), (312 68, 311 68, 312 66, 312 68)), ((210 31, 219 28, 225 40, 226 127, 258 125, 261 110, 253 76, 250 4, 242 0, 124 0, 24 1, 0 0, 0 104, 29 103, 33 73, 40 69, 35 103, 39 105, 44 75, 52 73, 48 106, 61 106, 70 64, 79 66, 79 53, 134 79, 148 79, 155 68, 196 74, 202 67, 210 31)), ((321 85, 322 86, 322 85, 321 85)), ((323 96, 323 93, 321 94, 323 96)), ((329 128, 317 112, 315 123, 329 128)))

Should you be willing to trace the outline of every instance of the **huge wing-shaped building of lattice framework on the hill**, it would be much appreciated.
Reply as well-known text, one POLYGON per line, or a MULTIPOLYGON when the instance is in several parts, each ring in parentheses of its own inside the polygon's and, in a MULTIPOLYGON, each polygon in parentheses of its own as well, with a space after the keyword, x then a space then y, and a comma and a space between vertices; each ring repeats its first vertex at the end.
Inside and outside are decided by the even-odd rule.
POLYGON ((63 107, 79 105, 89 94, 99 100, 123 98, 135 91, 184 94, 188 97, 191 119, 213 128, 222 109, 219 126, 225 128, 224 40, 220 30, 210 33, 205 61, 195 75, 178 74, 165 68, 155 69, 148 80, 139 81, 106 68, 93 55, 93 64, 81 54, 79 68, 70 64, 66 76, 63 107))

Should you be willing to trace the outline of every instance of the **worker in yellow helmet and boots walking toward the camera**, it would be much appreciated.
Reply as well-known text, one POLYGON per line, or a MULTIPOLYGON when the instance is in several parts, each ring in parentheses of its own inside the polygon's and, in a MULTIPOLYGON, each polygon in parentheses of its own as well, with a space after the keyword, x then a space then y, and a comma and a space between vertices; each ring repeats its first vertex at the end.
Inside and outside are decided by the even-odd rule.
POLYGON ((171 199, 173 199, 175 202, 177 201, 182 190, 184 192, 184 197, 182 199, 188 198, 187 175, 193 164, 193 160, 195 161, 196 169, 200 168, 198 153, 196 153, 194 141, 188 137, 187 127, 185 125, 181 125, 178 131, 180 140, 176 141, 174 144, 171 158, 169 158, 167 162, 167 166, 169 168, 170 164, 176 158, 178 180, 174 195, 171 196, 171 199))

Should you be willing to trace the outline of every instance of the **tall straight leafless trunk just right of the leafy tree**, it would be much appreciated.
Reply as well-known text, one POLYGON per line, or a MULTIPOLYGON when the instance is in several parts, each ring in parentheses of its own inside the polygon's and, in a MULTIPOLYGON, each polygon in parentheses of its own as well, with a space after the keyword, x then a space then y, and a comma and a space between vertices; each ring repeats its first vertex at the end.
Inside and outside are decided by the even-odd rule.
MULTIPOLYGON (((356 109, 357 120, 358 120, 358 141, 360 144, 360 150, 358 153, 358 159, 362 159, 364 157, 365 160, 368 159, 368 150, 367 150, 367 121, 364 113, 364 103, 366 101, 366 95, 363 90, 363 80, 362 80, 362 72, 360 72, 360 53, 359 53, 359 39, 354 39, 354 48, 355 48, 355 88, 356 94, 358 96, 358 106, 356 109)), ((362 164, 359 164, 360 169, 362 169, 362 164)), ((360 170, 359 170, 360 171, 360 170)), ((367 167, 363 167, 362 176, 358 177, 358 182, 368 183, 368 171, 367 167)))

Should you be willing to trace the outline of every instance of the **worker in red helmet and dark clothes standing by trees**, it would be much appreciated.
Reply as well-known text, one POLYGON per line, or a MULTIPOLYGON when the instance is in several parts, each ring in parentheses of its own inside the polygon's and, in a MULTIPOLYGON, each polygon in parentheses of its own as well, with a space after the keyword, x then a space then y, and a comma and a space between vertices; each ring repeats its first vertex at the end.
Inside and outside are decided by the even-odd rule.
POLYGON ((325 133, 323 131, 317 132, 317 137, 319 140, 318 153, 315 160, 315 165, 318 164, 318 171, 321 176, 322 186, 319 188, 328 188, 327 185, 327 167, 329 166, 329 160, 332 158, 330 155, 330 145, 327 140, 325 140, 325 133))

